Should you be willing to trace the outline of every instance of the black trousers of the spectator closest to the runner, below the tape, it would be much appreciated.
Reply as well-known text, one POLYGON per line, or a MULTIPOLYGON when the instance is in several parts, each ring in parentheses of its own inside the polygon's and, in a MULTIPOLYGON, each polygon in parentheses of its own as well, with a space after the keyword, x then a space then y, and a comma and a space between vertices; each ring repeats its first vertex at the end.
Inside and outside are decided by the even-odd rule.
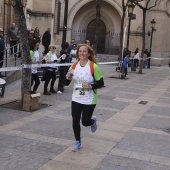
POLYGON ((60 67, 59 69, 59 81, 58 81, 58 91, 64 91, 64 80, 66 76, 66 68, 60 67))

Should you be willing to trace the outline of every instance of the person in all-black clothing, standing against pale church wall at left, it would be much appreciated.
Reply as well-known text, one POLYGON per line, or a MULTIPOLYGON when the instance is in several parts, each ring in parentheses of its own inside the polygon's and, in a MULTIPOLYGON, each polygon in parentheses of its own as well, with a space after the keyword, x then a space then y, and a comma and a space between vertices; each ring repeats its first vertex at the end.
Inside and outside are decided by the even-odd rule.
POLYGON ((50 33, 50 28, 48 28, 47 31, 43 34, 42 37, 42 45, 44 46, 44 55, 46 55, 49 51, 48 46, 51 44, 51 33, 50 33))

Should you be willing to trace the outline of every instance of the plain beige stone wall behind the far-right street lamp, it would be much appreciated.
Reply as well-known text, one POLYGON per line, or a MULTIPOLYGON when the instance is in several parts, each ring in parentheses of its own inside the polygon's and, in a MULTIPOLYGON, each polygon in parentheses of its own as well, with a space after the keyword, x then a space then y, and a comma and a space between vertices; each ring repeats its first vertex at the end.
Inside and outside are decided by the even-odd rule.
MULTIPOLYGON (((158 58, 167 58, 170 57, 170 34, 169 25, 170 25, 170 13, 169 13, 170 1, 163 0, 160 4, 148 11, 146 22, 148 23, 146 28, 151 31, 150 21, 155 19, 155 29, 153 32, 153 41, 152 41, 152 56, 158 58)), ((146 47, 150 48, 150 38, 148 37, 146 42, 146 47)), ((168 62, 168 60, 167 60, 168 62)))

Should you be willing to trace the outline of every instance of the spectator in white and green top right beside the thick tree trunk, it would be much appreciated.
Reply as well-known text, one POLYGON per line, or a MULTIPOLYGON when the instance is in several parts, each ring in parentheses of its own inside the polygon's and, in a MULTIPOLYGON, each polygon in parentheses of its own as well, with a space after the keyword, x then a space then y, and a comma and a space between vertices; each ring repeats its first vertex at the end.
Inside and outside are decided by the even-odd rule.
MULTIPOLYGON (((32 60, 32 64, 39 64, 42 61, 40 60, 40 55, 38 52, 40 43, 38 41, 34 41, 33 44, 30 46, 30 57, 32 60)), ((31 86, 33 86, 33 92, 35 93, 38 89, 38 86, 40 84, 40 79, 39 75, 37 72, 37 68, 33 67, 32 68, 32 77, 31 77, 31 86), (34 84, 34 86, 33 86, 34 84)))

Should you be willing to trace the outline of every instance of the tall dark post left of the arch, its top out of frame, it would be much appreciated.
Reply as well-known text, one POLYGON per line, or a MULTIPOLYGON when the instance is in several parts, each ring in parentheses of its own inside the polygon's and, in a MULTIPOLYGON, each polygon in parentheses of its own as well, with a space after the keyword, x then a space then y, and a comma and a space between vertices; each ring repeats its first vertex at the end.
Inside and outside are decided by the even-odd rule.
POLYGON ((64 9, 64 23, 63 23, 63 37, 62 37, 62 50, 61 54, 65 53, 66 48, 66 34, 67 34, 67 15, 68 15, 68 0, 65 0, 65 9, 64 9))

